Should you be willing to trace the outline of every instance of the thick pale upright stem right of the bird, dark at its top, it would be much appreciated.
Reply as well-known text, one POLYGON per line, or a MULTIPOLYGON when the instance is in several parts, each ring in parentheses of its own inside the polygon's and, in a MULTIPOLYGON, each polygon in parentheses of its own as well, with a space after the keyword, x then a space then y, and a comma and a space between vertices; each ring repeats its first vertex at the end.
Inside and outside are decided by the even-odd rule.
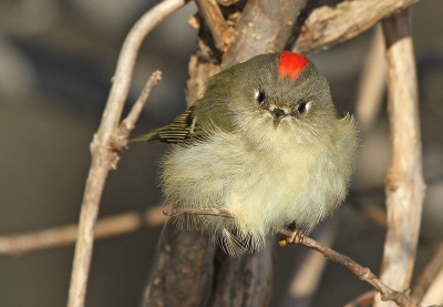
MULTIPOLYGON (((408 10, 383 21, 392 163, 387 177, 388 233, 381 279, 408 289, 415 262, 425 185, 422 174, 418 83, 408 10)), ((375 298, 374 306, 382 304, 375 298)))

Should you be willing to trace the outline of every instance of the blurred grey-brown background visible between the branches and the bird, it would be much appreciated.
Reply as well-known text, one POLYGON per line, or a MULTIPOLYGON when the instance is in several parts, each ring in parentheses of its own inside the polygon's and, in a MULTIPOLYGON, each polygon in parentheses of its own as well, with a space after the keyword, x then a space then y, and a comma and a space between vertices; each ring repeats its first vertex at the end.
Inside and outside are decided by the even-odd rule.
MULTIPOLYGON (((0 236, 75 224, 97 130, 123 40, 158 1, 0 0, 0 236)), ((155 29, 137 60, 127 108, 154 70, 163 81, 150 98, 132 136, 167 124, 186 109, 187 63, 197 31, 187 25, 193 2, 155 29)), ((420 82, 424 176, 427 194, 422 235, 443 239, 443 1, 411 10, 420 82)), ((309 55, 331 83, 341 113, 352 111, 371 32, 309 55)), ((125 111, 125 113, 127 110, 125 111)), ((156 160, 162 145, 131 144, 112 172, 100 216, 144 212, 158 204, 156 160)), ((351 199, 331 218, 333 248, 378 273, 385 231, 352 199, 383 207, 390 163, 385 102, 362 137, 351 199), (353 194, 352 194, 353 193, 353 194), (359 194, 360 193, 360 194, 359 194), (356 196, 357 195, 357 196, 356 196)), ((86 306, 137 306, 155 260, 161 227, 97 241, 86 306)), ((286 299, 295 255, 278 247, 271 306, 286 299)), ((0 255, 0 306, 64 306, 74 246, 0 255)), ((431 256, 419 248, 416 272, 431 256)), ((416 274, 415 274, 416 275, 416 274)), ((370 287, 340 265, 327 263, 310 306, 342 306, 370 287)))

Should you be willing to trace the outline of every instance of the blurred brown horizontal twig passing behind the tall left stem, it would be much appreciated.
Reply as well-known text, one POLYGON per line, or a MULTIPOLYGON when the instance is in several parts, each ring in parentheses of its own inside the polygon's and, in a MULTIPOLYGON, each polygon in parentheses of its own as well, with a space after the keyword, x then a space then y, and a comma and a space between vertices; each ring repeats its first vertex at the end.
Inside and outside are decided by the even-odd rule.
MULTIPOLYGON (((145 213, 127 212, 101 218, 95 224, 94 239, 124 235, 141 227, 161 226, 167 221, 162 206, 157 206, 145 213)), ((79 225, 73 224, 28 234, 2 236, 0 237, 0 255, 17 256, 71 245, 75 243, 78 232, 79 225)))

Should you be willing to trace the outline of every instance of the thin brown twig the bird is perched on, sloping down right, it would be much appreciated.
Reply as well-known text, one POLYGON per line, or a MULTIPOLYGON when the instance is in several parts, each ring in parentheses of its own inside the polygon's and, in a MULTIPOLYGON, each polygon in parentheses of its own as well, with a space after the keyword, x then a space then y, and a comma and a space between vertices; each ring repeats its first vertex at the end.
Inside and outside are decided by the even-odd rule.
MULTIPOLYGON (((220 217, 234 218, 231 214, 228 212, 224 212, 222 215, 218 215, 218 209, 210 208, 179 208, 179 209, 169 209, 167 211, 168 216, 178 216, 184 214, 198 214, 204 213, 205 215, 214 215, 220 217)), ((278 231, 285 237, 293 237, 293 232, 281 228, 278 231)), ((295 237, 296 239, 292 243, 288 243, 291 245, 303 245, 306 247, 312 248, 319 253, 321 253, 324 257, 332 262, 337 262, 343 266, 346 266, 352 274, 359 277, 361 280, 367 282, 371 286, 375 288, 381 294, 382 300, 392 300, 401 307, 420 307, 420 305, 413 303, 410 296, 406 293, 400 293, 391 289, 385 284, 383 284, 375 275, 371 273, 371 270, 367 267, 363 267, 352 260, 351 258, 329 248, 310 237, 305 235, 298 235, 295 237)))

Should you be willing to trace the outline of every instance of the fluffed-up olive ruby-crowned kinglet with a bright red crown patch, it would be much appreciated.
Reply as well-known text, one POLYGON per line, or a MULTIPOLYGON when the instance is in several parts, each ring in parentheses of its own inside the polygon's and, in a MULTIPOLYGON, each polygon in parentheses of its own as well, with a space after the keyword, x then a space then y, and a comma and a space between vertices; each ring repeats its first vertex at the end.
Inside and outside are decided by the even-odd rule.
POLYGON ((235 217, 177 222, 207 231, 237 256, 262 247, 269 231, 296 225, 309 233, 340 205, 358 130, 352 116, 337 116, 316 66, 284 51, 214 75, 185 113, 140 139, 173 144, 161 162, 165 204, 235 217))

